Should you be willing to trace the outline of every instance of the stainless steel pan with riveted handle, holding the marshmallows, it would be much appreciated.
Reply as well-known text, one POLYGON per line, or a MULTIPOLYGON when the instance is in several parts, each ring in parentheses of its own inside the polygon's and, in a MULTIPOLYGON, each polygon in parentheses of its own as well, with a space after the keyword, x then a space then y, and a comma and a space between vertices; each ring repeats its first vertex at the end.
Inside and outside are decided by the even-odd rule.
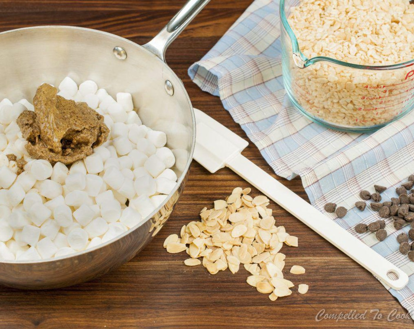
POLYGON ((165 63, 165 50, 209 0, 189 0, 149 43, 72 26, 36 26, 0 33, 0 97, 32 99, 42 82, 94 80, 110 94, 132 94, 142 122, 166 132, 175 150, 178 182, 140 226, 69 257, 1 261, 0 284, 46 289, 93 279, 134 257, 161 229, 183 191, 195 144, 195 119, 180 79, 165 63))

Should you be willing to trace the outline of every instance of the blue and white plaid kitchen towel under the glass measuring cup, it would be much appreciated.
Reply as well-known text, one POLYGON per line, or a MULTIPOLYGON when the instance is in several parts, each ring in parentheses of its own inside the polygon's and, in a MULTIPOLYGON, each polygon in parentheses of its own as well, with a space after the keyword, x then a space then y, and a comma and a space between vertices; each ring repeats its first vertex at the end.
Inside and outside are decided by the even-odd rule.
MULTIPOLYGON (((326 202, 349 209, 342 219, 330 215, 407 274, 400 291, 386 287, 414 318, 414 262, 398 251, 397 234, 386 219, 388 238, 357 234, 357 223, 378 220, 369 207, 359 211, 359 192, 389 187, 383 199, 414 173, 414 111, 377 132, 349 134, 328 130, 301 115, 285 95, 281 70, 279 2, 255 0, 219 42, 188 73, 204 91, 219 96, 277 175, 300 175, 310 202, 320 211, 326 202)), ((407 232, 409 226, 402 231, 407 232)))

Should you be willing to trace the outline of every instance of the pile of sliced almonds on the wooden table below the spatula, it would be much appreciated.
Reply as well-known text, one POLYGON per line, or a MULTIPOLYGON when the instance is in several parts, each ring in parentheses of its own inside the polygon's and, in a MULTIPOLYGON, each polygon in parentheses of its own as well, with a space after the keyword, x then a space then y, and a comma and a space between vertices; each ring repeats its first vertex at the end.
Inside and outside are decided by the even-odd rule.
MULTIPOLYGON (((285 255, 279 252, 286 245, 297 247, 298 238, 286 233, 284 226, 275 226, 269 199, 264 195, 250 197, 251 189, 236 187, 226 200, 214 201, 214 208, 203 208, 201 221, 192 221, 177 234, 164 241, 167 252, 186 251, 191 258, 184 264, 203 264, 210 274, 229 270, 234 274, 240 264, 252 275, 247 283, 260 293, 270 294, 271 300, 291 295, 294 284, 284 279, 285 255), (187 246, 188 245, 188 246, 187 246), (200 262, 199 257, 202 258, 200 262)), ((305 269, 294 265, 292 274, 305 269)), ((306 293, 308 285, 299 284, 298 292, 306 293)))

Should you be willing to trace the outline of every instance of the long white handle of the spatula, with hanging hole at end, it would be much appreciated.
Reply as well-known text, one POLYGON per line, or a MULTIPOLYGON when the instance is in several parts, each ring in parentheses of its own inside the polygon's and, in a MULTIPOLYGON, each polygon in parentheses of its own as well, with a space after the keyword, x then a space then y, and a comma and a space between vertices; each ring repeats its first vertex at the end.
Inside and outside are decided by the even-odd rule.
POLYGON ((345 231, 332 219, 315 209, 243 155, 236 155, 228 161, 226 166, 289 211, 289 213, 305 223, 313 231, 328 240, 332 245, 335 245, 339 250, 365 267, 383 283, 396 290, 400 290, 407 285, 408 276, 404 271, 358 240, 351 233, 345 231), (388 272, 397 274, 398 279, 390 279, 387 276, 388 272))

